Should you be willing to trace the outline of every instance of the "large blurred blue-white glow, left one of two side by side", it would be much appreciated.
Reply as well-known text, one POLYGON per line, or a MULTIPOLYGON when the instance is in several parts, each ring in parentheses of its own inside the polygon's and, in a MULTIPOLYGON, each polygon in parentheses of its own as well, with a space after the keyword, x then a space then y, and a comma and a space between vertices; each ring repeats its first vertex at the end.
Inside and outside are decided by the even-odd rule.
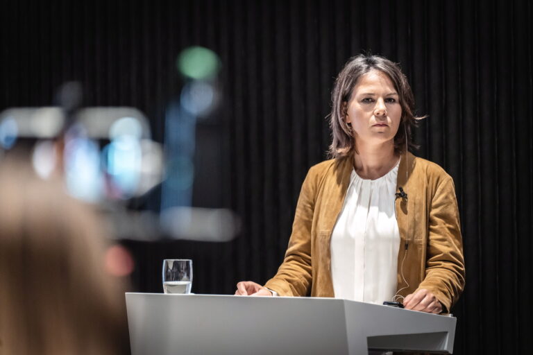
POLYGON ((87 202, 101 198, 100 152, 90 139, 69 139, 65 145, 65 178, 69 193, 87 202))

